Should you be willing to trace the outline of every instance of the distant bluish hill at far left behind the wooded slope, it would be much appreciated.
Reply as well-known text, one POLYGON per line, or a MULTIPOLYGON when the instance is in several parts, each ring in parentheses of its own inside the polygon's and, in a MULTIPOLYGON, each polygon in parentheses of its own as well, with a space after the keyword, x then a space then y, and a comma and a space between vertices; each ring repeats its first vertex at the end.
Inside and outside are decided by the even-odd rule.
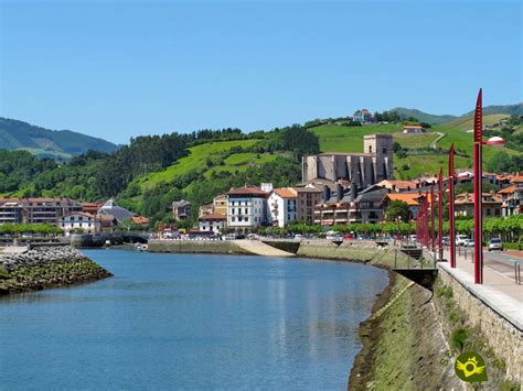
POLYGON ((118 146, 71 130, 50 130, 14 119, 0 118, 0 149, 25 150, 40 158, 67 160, 88 150, 110 153, 118 146))

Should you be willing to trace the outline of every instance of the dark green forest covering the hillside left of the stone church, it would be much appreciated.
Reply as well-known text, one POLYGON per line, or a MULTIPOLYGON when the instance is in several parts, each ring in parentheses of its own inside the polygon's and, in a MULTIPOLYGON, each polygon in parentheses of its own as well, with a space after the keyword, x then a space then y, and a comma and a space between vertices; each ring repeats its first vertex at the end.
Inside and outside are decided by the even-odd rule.
POLYGON ((239 129, 223 129, 138 137, 114 153, 88 151, 68 162, 38 159, 25 151, 0 150, 0 194, 70 197, 84 202, 115 197, 121 206, 151 217, 154 222, 169 220, 171 203, 175 199, 186 198, 198 207, 212 202, 214 195, 246 183, 295 184, 301 178, 301 156, 318 152, 318 138, 297 124, 270 132, 244 133, 239 129), (202 166, 191 167, 193 170, 183 175, 147 189, 134 181, 175 165, 188 156, 192 146, 235 140, 254 142, 247 149, 231 148, 226 151, 228 155, 248 152, 275 156, 268 162, 248 165, 234 175, 216 170, 211 176, 203 176, 205 170, 223 164, 226 158, 223 152, 204 156, 202 166))

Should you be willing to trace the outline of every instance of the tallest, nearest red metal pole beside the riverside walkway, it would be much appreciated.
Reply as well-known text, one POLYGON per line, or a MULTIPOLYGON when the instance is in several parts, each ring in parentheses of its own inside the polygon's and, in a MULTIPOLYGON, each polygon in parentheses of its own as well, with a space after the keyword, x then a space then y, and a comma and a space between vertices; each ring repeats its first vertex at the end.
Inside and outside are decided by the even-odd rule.
POLYGON ((483 142, 483 120, 482 120, 482 96, 481 88, 478 94, 474 112, 474 282, 483 283, 483 208, 482 202, 482 178, 481 170, 482 156, 481 146, 483 142))

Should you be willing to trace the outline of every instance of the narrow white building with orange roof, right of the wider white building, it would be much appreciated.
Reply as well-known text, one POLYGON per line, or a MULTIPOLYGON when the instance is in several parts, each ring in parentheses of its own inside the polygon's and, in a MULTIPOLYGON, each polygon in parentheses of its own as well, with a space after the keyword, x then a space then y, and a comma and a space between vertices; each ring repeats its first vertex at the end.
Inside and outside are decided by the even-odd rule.
POLYGON ((296 220, 297 200, 298 193, 292 187, 273 189, 267 202, 268 222, 282 228, 296 220))

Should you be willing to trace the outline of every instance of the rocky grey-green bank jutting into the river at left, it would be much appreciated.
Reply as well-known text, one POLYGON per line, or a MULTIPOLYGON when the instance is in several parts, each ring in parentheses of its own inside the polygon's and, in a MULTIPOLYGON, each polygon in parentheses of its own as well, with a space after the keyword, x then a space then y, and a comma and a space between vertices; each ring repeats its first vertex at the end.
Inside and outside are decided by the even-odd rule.
POLYGON ((0 294, 74 285, 111 276, 71 246, 0 253, 0 294))

